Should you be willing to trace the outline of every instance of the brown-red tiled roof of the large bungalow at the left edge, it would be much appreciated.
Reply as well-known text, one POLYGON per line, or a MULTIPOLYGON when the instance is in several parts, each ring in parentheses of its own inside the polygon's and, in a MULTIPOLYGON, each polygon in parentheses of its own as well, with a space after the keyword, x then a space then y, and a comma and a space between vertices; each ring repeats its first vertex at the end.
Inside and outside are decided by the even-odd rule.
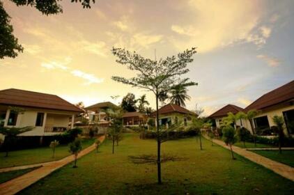
POLYGON ((57 95, 24 91, 15 88, 8 88, 0 91, 0 104, 16 107, 34 107, 40 109, 83 112, 79 107, 70 104, 70 102, 59 98, 57 95))

